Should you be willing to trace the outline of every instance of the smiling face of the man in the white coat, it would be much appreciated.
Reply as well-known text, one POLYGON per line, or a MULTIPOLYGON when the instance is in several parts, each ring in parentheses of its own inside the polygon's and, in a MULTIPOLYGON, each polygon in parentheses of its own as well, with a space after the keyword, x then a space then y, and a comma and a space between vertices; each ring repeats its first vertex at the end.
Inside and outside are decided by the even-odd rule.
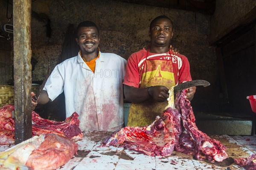
POLYGON ((77 33, 76 42, 82 52, 91 54, 96 52, 99 46, 99 32, 94 26, 80 27, 77 33))

